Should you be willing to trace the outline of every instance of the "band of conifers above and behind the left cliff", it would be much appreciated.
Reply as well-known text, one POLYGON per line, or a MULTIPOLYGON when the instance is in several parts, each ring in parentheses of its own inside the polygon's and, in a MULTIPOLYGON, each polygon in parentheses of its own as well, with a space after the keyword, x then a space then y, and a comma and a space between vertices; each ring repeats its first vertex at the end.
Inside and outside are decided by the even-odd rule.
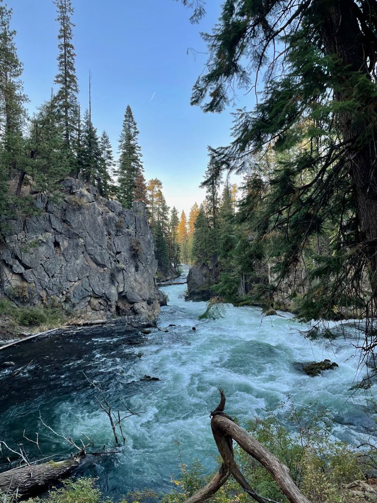
POLYGON ((186 221, 184 212, 166 205, 162 183, 146 182, 139 131, 131 107, 125 109, 115 160, 106 131, 98 133, 92 120, 89 73, 88 108, 78 101, 73 45, 73 7, 70 0, 53 0, 58 23, 57 74, 49 99, 29 117, 22 83, 23 65, 14 44, 11 10, 0 0, 0 226, 7 218, 38 211, 34 195, 59 197, 59 182, 67 176, 94 185, 100 195, 117 198, 125 208, 142 202, 155 239, 160 277, 177 271, 191 256, 194 205, 186 221), (173 268, 173 269, 172 269, 173 268))

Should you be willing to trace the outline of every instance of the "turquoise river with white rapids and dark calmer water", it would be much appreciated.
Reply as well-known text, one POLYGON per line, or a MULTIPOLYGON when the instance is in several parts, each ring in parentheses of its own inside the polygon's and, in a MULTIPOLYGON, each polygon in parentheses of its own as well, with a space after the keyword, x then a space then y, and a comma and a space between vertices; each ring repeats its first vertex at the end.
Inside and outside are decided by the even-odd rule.
MULTIPOLYGON (((335 437, 358 443, 373 432, 364 412, 365 392, 348 391, 359 365, 350 335, 325 345, 309 341, 299 332, 306 327, 292 315, 263 318, 254 307, 227 305, 224 317, 198 321, 206 304, 185 301, 185 289, 163 287, 169 306, 148 335, 116 323, 68 330, 1 351, 0 439, 13 447, 23 442, 28 449, 26 428, 29 438, 40 432, 44 455, 68 453, 64 441, 41 427, 40 411, 59 433, 78 439, 85 432, 99 449, 113 446, 108 417, 82 371, 98 379, 114 408, 127 413, 122 401, 143 412, 124 420, 127 441, 119 454, 88 458, 80 468, 80 473, 98 476, 102 489, 114 497, 133 489, 169 490, 170 476, 179 472, 175 440, 186 464, 198 458, 208 469, 215 466, 208 413, 218 404, 219 387, 227 396, 226 412, 241 423, 265 415, 290 395, 296 406, 317 400, 329 408, 335 437), (337 361, 339 368, 312 378, 295 366, 324 358, 337 361), (4 369, 9 360, 16 367, 4 369), (144 375, 159 380, 140 380, 144 375)), ((8 466, 0 458, 0 469, 8 466)))

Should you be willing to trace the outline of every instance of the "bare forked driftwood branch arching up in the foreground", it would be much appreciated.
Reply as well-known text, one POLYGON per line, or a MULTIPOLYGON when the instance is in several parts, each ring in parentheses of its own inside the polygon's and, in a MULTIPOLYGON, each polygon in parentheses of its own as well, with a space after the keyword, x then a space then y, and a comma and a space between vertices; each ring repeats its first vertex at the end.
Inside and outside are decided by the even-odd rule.
POLYGON ((230 474, 237 480, 242 489, 259 503, 277 503, 274 500, 257 494, 243 476, 234 458, 233 440, 260 462, 271 474, 276 484, 291 503, 310 503, 292 480, 289 469, 279 459, 266 449, 246 430, 236 425, 233 419, 224 414, 225 394, 220 390, 220 404, 211 412, 211 428, 223 464, 214 478, 202 489, 186 500, 186 503, 203 503, 210 499, 224 485, 230 474))

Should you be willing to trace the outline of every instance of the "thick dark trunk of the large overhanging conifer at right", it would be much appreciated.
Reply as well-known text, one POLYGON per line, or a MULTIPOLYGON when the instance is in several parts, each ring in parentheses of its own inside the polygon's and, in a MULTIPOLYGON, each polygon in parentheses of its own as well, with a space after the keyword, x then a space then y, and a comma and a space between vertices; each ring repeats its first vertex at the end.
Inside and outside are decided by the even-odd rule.
MULTIPOLYGON (((339 80, 341 90, 334 91, 334 98, 339 102, 351 98, 354 93, 354 75, 360 72, 371 80, 367 56, 375 55, 373 43, 366 46, 365 34, 361 31, 355 13, 358 7, 354 0, 316 0, 315 6, 324 20, 321 35, 327 55, 336 55, 340 61, 339 80), (349 71, 345 71, 347 66, 349 71)), ((368 20, 367 20, 368 22, 368 20)), ((368 93, 366 93, 368 94, 368 93)), ((340 130, 344 140, 348 140, 349 173, 355 196, 360 241, 362 252, 368 261, 369 280, 372 290, 374 309, 377 305, 377 170, 376 145, 370 132, 371 120, 377 113, 375 97, 359 96, 358 110, 340 114, 340 130), (367 110, 371 113, 368 114, 367 110), (360 137, 365 140, 360 140, 360 137)), ((372 306, 373 309, 373 306, 372 306)))

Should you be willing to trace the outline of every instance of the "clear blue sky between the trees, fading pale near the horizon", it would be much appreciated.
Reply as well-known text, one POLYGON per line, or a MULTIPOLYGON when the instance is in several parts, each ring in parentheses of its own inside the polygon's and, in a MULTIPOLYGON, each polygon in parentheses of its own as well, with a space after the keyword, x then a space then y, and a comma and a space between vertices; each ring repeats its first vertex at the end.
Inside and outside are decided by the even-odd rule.
MULTIPOLYGON (((33 112, 49 98, 56 74, 55 6, 52 0, 4 4, 13 9, 12 28, 33 112)), ((207 1, 207 14, 199 25, 191 25, 190 10, 173 0, 72 4, 82 109, 87 107, 91 70, 92 117, 98 132, 108 132, 116 154, 124 110, 130 104, 140 131, 145 178, 160 178, 167 204, 188 212, 204 197, 198 186, 207 164, 207 145, 226 145, 230 139, 231 109, 204 114, 190 106, 192 86, 206 61, 200 53, 206 51, 200 31, 211 31, 220 15, 220 0, 207 1)), ((244 103, 253 100, 250 95, 240 98, 244 103)))

